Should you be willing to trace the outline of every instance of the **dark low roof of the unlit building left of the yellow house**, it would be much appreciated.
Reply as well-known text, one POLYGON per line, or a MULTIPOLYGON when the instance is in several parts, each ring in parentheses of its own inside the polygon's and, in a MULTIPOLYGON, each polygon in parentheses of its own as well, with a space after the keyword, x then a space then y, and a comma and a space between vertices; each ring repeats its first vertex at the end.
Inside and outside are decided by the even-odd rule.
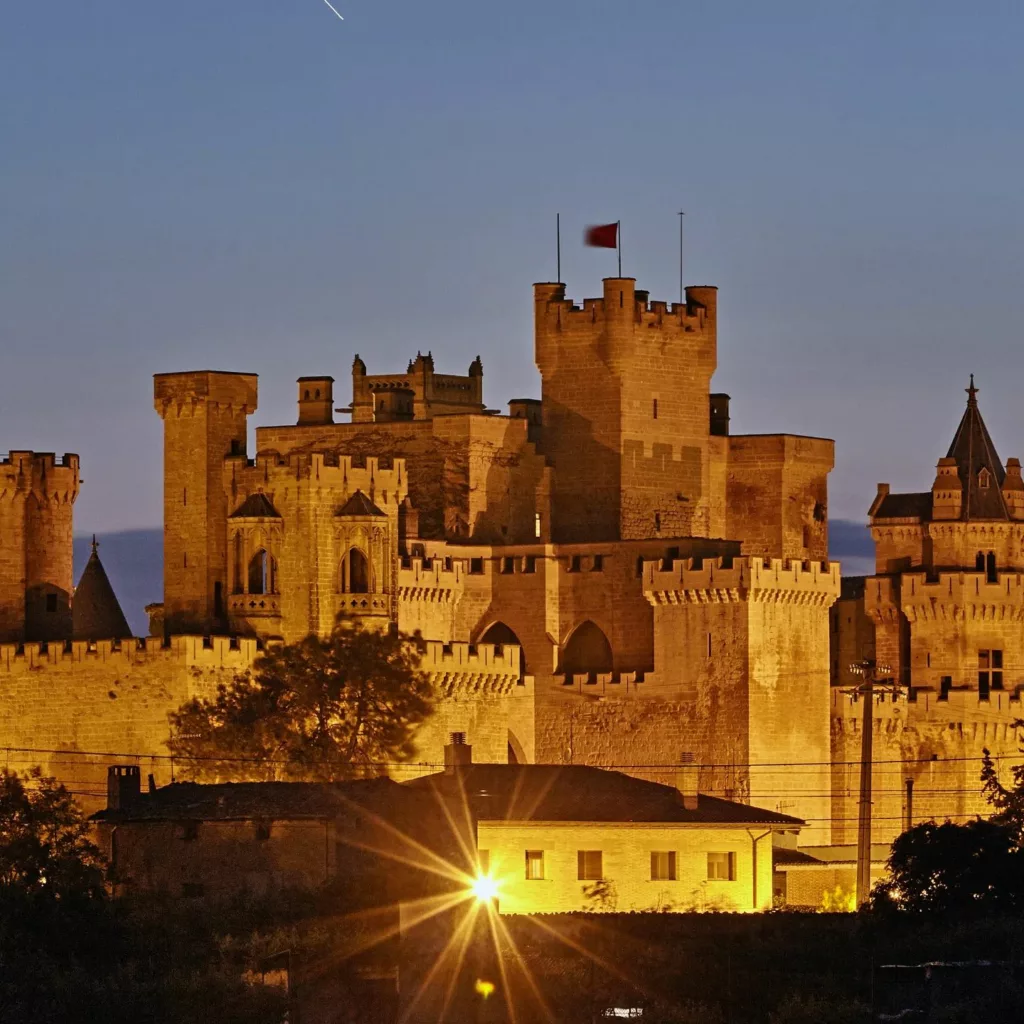
POLYGON ((215 821, 334 817, 350 804, 398 809, 407 791, 389 778, 346 782, 172 782, 142 793, 118 811, 103 810, 97 821, 215 821))

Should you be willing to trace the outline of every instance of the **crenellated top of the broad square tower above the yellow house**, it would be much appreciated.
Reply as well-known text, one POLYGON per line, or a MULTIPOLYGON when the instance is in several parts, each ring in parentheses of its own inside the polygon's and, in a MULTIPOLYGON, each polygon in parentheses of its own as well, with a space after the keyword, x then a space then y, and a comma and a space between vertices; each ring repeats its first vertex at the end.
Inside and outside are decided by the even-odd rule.
POLYGON ((839 598, 838 562, 781 558, 686 558, 664 568, 644 562, 644 594, 651 604, 780 601, 828 606, 839 598))

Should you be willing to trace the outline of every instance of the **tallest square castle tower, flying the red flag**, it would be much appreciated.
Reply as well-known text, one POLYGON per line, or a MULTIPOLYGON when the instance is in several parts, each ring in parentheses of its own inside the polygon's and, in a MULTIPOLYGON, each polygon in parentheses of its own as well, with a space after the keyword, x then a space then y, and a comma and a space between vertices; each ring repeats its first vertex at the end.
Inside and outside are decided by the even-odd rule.
POLYGON ((606 278, 582 307, 561 284, 534 298, 554 540, 709 536, 717 289, 670 306, 606 278))

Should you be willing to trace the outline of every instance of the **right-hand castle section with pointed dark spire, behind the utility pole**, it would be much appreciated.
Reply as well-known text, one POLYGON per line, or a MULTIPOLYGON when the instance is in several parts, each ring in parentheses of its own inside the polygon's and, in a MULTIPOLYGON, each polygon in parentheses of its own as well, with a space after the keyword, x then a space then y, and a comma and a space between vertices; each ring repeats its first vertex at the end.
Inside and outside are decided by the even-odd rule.
POLYGON ((860 709, 844 688, 861 658, 888 665, 902 697, 874 709, 873 836, 990 811, 984 750, 1004 778, 1024 718, 1024 480, 1000 462, 971 378, 967 409, 930 492, 880 483, 868 512, 876 574, 844 581, 831 611, 834 838, 856 831, 860 709))

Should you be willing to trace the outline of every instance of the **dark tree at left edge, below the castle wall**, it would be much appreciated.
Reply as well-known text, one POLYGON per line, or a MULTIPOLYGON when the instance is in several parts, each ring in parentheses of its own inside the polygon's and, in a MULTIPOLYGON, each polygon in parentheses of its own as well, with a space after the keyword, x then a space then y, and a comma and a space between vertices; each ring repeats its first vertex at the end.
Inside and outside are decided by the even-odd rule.
POLYGON ((103 892, 103 864, 72 795, 42 770, 0 770, 0 889, 68 899, 103 892))

